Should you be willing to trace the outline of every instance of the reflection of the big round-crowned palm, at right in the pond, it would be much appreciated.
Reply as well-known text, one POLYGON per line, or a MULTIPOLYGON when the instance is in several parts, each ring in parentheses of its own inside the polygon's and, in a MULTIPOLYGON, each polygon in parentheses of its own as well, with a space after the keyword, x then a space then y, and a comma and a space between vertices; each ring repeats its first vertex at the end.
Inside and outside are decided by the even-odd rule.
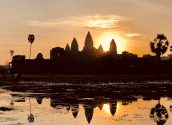
POLYGON ((164 125, 168 119, 167 109, 160 104, 160 100, 158 104, 153 107, 150 111, 150 117, 154 119, 157 125, 164 125))

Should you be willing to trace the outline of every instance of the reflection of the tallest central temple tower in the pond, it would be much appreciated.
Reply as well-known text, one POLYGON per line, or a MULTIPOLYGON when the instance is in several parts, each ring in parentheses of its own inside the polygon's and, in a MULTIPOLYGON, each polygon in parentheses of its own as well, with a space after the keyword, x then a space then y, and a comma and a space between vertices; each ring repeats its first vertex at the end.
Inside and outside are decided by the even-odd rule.
POLYGON ((90 123, 94 113, 94 106, 85 104, 84 109, 85 109, 85 117, 87 119, 87 122, 90 123))

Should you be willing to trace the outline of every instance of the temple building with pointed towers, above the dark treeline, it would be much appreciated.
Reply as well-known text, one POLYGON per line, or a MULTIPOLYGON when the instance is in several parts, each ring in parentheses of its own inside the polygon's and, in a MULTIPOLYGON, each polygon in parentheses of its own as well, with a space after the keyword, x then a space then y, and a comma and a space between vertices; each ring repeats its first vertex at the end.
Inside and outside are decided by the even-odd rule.
MULTIPOLYGON (((92 36, 90 32, 88 32, 85 38, 84 47, 82 51, 79 51, 77 39, 74 37, 71 46, 67 43, 65 48, 52 48, 50 51, 50 59, 59 60, 72 58, 73 60, 78 59, 78 61, 80 61, 80 59, 93 59, 103 56, 105 54, 107 53, 103 51, 102 45, 100 45, 98 49, 94 47, 92 36)), ((117 46, 114 39, 112 39, 111 41, 110 50, 108 54, 117 55, 117 46)))

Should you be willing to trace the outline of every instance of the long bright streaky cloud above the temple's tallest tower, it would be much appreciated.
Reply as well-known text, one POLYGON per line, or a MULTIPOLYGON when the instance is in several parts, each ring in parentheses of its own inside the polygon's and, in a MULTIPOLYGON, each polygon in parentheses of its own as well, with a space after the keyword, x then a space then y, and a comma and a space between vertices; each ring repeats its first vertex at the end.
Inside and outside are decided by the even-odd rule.
POLYGON ((58 18, 46 21, 32 20, 29 22, 29 25, 44 28, 58 28, 63 25, 89 28, 114 28, 117 27, 119 21, 122 20, 125 20, 125 18, 117 15, 95 14, 89 16, 58 18))

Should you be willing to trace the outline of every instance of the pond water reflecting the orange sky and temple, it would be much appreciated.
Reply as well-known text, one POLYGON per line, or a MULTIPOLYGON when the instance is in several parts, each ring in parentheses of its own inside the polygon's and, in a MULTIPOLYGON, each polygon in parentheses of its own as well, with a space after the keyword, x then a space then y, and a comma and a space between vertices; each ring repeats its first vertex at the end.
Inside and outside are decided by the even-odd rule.
POLYGON ((170 87, 170 82, 21 82, 1 87, 0 107, 14 110, 0 111, 0 124, 171 125, 170 87), (32 123, 28 121, 30 110, 34 115, 32 123), (150 116, 151 111, 154 117, 150 116))

